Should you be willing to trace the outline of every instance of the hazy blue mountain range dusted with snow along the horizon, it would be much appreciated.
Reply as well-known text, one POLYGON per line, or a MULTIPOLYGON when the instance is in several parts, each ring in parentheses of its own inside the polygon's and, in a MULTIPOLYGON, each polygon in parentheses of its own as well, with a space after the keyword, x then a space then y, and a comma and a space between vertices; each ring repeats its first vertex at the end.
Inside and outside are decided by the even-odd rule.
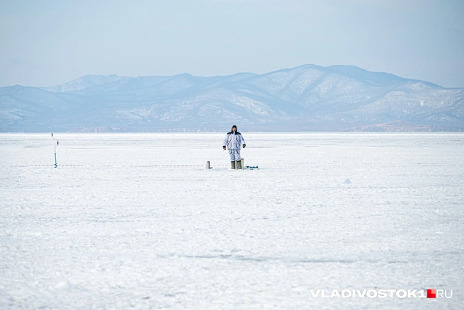
POLYGON ((461 131, 464 88, 353 66, 0 88, 1 132, 461 131), (385 125, 387 124, 387 125, 385 125))

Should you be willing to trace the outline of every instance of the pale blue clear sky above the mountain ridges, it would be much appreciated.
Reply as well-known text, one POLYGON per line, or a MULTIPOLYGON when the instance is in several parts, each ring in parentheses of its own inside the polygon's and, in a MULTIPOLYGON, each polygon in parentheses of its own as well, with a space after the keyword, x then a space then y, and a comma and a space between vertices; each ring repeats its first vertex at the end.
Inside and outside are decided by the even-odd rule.
POLYGON ((0 0, 0 86, 352 64, 464 87, 463 16, 463 0, 0 0))

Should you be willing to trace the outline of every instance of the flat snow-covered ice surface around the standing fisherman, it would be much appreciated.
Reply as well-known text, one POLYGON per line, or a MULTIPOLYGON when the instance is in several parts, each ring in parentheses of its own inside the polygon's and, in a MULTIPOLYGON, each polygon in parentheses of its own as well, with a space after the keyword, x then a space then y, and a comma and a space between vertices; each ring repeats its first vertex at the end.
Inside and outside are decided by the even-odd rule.
POLYGON ((0 309, 462 309, 464 134, 55 137, 0 134, 0 309))

